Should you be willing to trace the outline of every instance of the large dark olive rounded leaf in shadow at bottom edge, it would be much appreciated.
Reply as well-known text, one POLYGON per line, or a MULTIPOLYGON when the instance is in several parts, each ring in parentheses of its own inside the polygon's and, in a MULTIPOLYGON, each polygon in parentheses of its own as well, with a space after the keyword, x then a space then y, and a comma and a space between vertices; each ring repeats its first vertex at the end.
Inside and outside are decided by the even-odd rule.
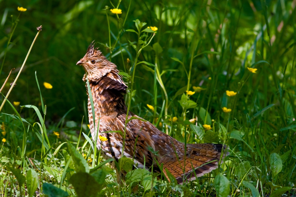
POLYGON ((69 182, 74 186, 77 197, 95 197, 101 190, 101 185, 86 172, 77 172, 69 182))

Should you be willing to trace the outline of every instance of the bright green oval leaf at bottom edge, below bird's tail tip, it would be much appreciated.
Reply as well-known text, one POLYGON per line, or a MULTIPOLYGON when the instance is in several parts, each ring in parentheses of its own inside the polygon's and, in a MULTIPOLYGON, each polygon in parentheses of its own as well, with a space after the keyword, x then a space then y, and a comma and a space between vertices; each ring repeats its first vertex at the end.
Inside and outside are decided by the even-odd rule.
POLYGON ((217 197, 227 197, 230 192, 230 182, 224 175, 217 175, 215 177, 215 189, 217 197))

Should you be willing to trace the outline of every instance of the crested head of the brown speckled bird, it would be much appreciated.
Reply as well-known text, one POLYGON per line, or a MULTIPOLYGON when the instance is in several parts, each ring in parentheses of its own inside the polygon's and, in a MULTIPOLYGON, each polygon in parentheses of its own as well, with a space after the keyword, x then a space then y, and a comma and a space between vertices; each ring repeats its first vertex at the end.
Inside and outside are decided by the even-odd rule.
POLYGON ((108 72, 116 69, 116 65, 109 62, 98 48, 94 48, 94 44, 95 42, 93 41, 89 45, 84 57, 76 65, 83 66, 89 79, 98 80, 108 72))

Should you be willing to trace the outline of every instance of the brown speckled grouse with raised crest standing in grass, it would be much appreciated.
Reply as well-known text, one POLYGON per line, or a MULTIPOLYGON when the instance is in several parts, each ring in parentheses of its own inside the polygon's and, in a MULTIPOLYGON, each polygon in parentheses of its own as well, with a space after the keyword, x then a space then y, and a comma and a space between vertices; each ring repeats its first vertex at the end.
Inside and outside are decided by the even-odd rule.
MULTIPOLYGON (((86 83, 88 96, 89 128, 94 141, 96 136, 99 136, 95 144, 98 149, 101 149, 102 156, 105 159, 113 158, 118 162, 124 155, 133 159, 137 168, 150 171, 153 165, 154 172, 163 172, 170 181, 168 171, 176 178, 178 184, 195 180, 218 168, 219 161, 229 154, 226 145, 196 143, 186 144, 185 148, 184 143, 163 133, 153 124, 130 111, 128 119, 134 118, 126 124, 123 150, 123 133, 128 110, 124 95, 128 86, 119 75, 117 66, 108 61, 99 48, 94 47, 94 44, 93 41, 84 57, 76 65, 81 65, 86 72, 83 75, 83 81, 86 83), (86 80, 89 81, 91 95, 88 92, 86 80), (93 100, 95 119, 90 96, 93 100), (121 132, 108 133, 108 131, 121 132), (153 159, 157 162, 153 162, 153 159), (161 169, 160 166, 163 168, 161 169)), ((111 164, 115 167, 114 162, 111 164)))

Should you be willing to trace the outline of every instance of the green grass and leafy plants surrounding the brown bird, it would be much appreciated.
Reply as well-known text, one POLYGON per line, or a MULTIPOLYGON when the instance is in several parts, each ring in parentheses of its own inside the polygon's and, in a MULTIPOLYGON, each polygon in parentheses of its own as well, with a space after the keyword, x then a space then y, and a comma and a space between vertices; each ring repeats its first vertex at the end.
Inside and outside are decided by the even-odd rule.
POLYGON ((16 68, 1 91, 0 196, 295 196, 295 1, 0 4, 1 83, 16 68), (178 141, 229 146, 218 169, 178 185, 128 158, 111 168, 75 66, 94 39, 118 65, 130 111, 178 141))

